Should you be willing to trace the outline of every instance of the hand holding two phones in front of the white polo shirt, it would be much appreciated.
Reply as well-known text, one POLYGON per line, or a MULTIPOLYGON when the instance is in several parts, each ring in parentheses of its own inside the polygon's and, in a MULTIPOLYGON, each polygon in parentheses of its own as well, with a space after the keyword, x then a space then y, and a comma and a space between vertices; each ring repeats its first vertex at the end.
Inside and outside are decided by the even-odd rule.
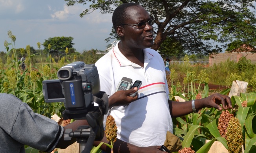
POLYGON ((115 92, 112 96, 108 98, 108 108, 112 108, 114 106, 125 106, 129 105, 131 102, 137 100, 138 94, 135 95, 135 97, 130 97, 130 94, 137 91, 138 88, 134 87, 129 90, 121 90, 115 92))

